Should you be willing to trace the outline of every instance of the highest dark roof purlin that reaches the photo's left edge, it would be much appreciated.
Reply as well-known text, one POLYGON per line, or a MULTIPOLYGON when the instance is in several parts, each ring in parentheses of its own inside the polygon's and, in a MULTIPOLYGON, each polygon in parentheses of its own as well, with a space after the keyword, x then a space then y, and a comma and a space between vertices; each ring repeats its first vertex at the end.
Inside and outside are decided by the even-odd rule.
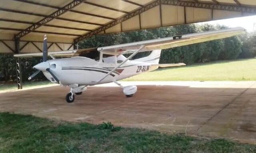
MULTIPOLYGON (((31 16, 40 16, 46 18, 46 15, 43 14, 36 14, 36 13, 30 13, 30 12, 24 12, 24 11, 17 11, 17 10, 10 10, 10 9, 5 9, 5 8, 0 8, 0 11, 5 11, 5 12, 14 12, 14 13, 19 13, 19 14, 26 14, 26 15, 31 15, 31 16)), ((58 20, 64 20, 64 21, 70 21, 70 22, 77 22, 77 23, 82 23, 82 24, 92 24, 96 26, 102 26, 103 24, 96 24, 92 22, 84 22, 84 21, 79 21, 79 20, 70 20, 66 18, 56 18, 58 20)))

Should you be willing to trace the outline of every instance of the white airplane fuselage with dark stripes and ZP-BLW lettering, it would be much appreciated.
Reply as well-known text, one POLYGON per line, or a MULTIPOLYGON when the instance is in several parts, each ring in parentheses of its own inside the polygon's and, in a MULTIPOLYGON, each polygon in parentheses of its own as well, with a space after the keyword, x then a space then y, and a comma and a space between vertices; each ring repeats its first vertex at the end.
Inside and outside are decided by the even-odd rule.
MULTIPOLYGON (((47 62, 49 63, 52 73, 60 80, 60 83, 64 85, 79 84, 87 86, 103 84, 153 71, 158 68, 153 66, 152 63, 128 60, 104 80, 98 82, 98 80, 119 65, 119 63, 98 62, 87 57, 53 59, 47 62)), ((43 71, 43 73, 48 80, 56 82, 49 72, 43 71)))

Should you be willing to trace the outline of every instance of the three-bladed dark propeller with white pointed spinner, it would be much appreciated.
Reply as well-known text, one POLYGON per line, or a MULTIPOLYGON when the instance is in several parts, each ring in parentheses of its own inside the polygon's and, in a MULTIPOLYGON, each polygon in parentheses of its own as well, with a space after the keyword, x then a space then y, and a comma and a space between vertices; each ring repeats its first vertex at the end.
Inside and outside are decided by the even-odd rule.
POLYGON ((56 80, 56 82, 58 82, 60 84, 59 79, 51 72, 50 70, 50 64, 47 61, 47 57, 48 57, 48 48, 47 48, 47 37, 46 35, 44 35, 44 44, 43 44, 43 62, 39 63, 37 65, 35 65, 33 68, 38 69, 36 72, 34 72, 29 78, 28 80, 31 80, 32 78, 36 77, 36 75, 38 75, 38 73, 40 73, 40 71, 48 71, 52 77, 56 80))

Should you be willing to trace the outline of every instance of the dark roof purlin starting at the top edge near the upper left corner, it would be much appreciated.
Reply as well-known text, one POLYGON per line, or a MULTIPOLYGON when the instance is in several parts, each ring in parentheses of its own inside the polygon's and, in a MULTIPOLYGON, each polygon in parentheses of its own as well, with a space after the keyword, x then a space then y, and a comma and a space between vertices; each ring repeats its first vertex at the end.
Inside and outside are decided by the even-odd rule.
MULTIPOLYGON (((57 7, 57 6, 42 4, 42 3, 28 1, 28 0, 14 0, 14 1, 28 3, 28 4, 34 4, 34 5, 39 5, 39 6, 44 6, 44 7, 48 7, 48 8, 60 9, 60 7, 57 7)), ((69 10, 69 12, 84 14, 84 15, 88 15, 88 16, 95 16, 95 17, 98 17, 98 18, 104 18, 104 19, 109 19, 109 20, 115 20, 114 18, 109 18, 109 17, 106 17, 106 16, 100 16, 100 15, 96 15, 96 14, 90 14, 90 13, 86 13, 86 12, 80 12, 80 11, 76 11, 76 10, 69 10)))

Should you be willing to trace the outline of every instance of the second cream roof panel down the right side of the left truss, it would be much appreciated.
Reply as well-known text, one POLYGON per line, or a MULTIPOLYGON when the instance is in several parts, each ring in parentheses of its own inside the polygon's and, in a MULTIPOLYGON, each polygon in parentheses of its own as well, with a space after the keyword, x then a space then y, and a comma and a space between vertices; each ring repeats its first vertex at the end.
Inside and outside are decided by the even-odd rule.
POLYGON ((92 22, 96 24, 106 24, 112 20, 104 19, 104 18, 98 18, 95 16, 88 16, 84 14, 78 14, 74 12, 66 12, 65 14, 61 15, 60 17, 71 19, 71 20, 78 20, 78 21, 84 21, 84 22, 92 22))

